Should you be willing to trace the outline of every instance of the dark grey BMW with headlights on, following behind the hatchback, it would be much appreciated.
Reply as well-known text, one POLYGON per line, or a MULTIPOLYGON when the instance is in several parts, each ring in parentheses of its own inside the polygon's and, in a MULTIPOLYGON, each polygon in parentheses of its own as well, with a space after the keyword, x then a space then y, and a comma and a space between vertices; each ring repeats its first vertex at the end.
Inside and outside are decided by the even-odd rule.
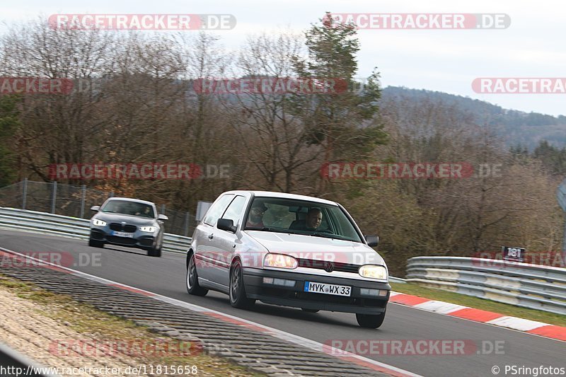
POLYGON ((112 197, 104 204, 91 207, 88 245, 103 248, 105 243, 147 250, 151 257, 161 257, 163 221, 168 217, 157 214, 155 204, 145 200, 112 197))

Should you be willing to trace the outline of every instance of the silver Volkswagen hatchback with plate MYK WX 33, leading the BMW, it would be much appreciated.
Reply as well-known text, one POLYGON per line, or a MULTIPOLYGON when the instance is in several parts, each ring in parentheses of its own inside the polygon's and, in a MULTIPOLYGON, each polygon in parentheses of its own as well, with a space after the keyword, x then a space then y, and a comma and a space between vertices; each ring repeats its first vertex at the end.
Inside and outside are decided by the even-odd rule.
POLYGON ((204 215, 187 252, 187 291, 228 294, 308 312, 356 313, 383 323, 391 286, 386 263, 338 203, 280 192, 229 191, 204 215))

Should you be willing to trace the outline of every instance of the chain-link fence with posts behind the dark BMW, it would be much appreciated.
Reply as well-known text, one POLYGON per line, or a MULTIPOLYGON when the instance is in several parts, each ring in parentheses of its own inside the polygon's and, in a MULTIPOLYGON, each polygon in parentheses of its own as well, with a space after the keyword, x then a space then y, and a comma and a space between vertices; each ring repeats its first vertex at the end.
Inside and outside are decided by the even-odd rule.
MULTIPOLYGON (((92 206, 102 204, 114 192, 93 190, 82 186, 57 182, 33 182, 23 180, 0 188, 0 207, 29 209, 63 216, 90 219, 92 206)), ((165 224, 167 233, 192 236, 195 230, 195 216, 186 211, 168 209, 166 204, 156 204, 160 214, 168 216, 165 224)))

